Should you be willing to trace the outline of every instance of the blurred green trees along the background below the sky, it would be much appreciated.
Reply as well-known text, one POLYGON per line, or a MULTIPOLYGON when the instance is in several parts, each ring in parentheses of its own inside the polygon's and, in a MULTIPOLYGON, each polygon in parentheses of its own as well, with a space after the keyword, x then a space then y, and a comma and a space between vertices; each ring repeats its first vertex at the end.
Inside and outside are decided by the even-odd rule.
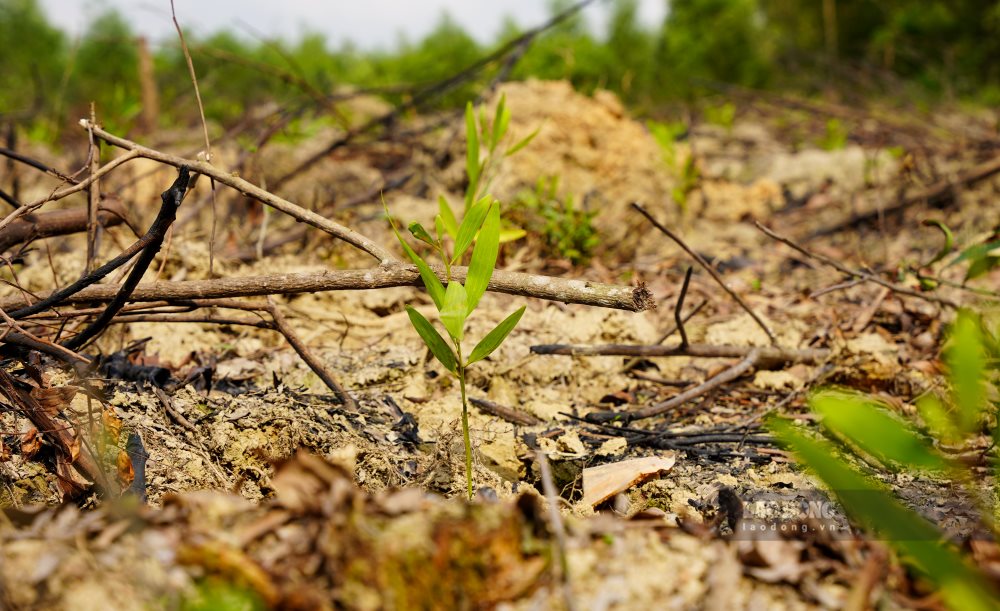
MULTIPOLYGON (((591 32, 579 16, 569 19, 535 40, 512 77, 610 89, 639 114, 697 101, 721 85, 927 104, 1000 103, 995 0, 664 1, 667 17, 654 28, 640 25, 635 0, 609 0, 605 32, 591 32)), ((569 4, 555 0, 551 10, 569 4)), ((189 44, 206 114, 227 126, 253 105, 315 103, 317 92, 345 85, 375 88, 398 101, 518 34, 511 21, 501 40, 482 45, 443 17, 423 39, 401 42, 392 52, 331 48, 319 35, 289 42, 218 32, 189 44)), ((48 22, 37 0, 0 0, 0 40, 0 117, 27 126, 30 136, 56 142, 89 113, 91 101, 114 130, 128 131, 138 121, 140 43, 118 14, 105 13, 70 39, 48 22)), ((179 44, 151 53, 159 124, 196 124, 179 44)), ((484 82, 468 82, 435 103, 458 107, 484 82)))

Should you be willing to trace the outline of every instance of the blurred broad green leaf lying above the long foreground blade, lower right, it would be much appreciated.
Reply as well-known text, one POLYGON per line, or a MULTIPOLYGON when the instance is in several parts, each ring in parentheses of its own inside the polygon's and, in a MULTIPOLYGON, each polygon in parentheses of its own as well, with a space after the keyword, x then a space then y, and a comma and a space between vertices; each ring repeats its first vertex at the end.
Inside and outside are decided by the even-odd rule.
POLYGON ((950 469, 948 461, 909 422, 876 405, 865 395, 823 391, 816 393, 809 405, 823 416, 824 427, 888 468, 950 469))

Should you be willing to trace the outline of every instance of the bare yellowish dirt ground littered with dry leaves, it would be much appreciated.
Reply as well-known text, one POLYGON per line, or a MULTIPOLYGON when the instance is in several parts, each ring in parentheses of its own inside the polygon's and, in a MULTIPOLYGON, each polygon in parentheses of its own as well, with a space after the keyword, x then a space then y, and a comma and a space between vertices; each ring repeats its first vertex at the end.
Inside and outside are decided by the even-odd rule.
MULTIPOLYGON (((823 137, 822 114, 761 101, 747 105, 731 125, 689 125, 666 159, 646 126, 611 94, 586 97, 565 83, 511 84, 504 90, 514 117, 512 139, 538 127, 540 132, 499 167, 492 192, 506 204, 539 179, 558 176, 561 195, 573 195, 596 212, 602 240, 589 265, 574 267, 529 235, 503 247, 501 267, 613 284, 643 282, 659 307, 632 313, 487 294, 470 320, 470 336, 482 336, 521 304, 528 307, 510 339, 470 372, 472 398, 507 408, 505 417, 496 409, 471 412, 476 500, 462 500, 456 385, 429 356, 403 310, 413 304, 433 318, 433 304, 416 288, 278 298, 299 337, 356 398, 356 408, 330 394, 272 330, 115 325, 92 353, 112 354, 148 338, 132 362, 165 367, 171 383, 164 391, 97 376, 90 383, 103 405, 78 392, 60 417, 80 431, 89 451, 104 457, 111 478, 128 477, 121 450, 129 433, 139 434, 149 454, 148 506, 100 499, 89 482, 68 485, 66 474, 54 468, 51 445, 43 439, 36 447, 43 435, 32 433, 15 411, 0 409, 5 608, 212 608, 220 601, 232 608, 358 609, 940 604, 900 565, 886 564, 884 544, 860 535, 813 531, 740 540, 726 533, 726 498, 732 495, 748 503, 762 494, 812 498, 821 490, 768 441, 760 428, 765 413, 778 410, 808 425, 806 391, 839 384, 874 393, 912 416, 914 399, 943 384, 942 332, 954 316, 953 308, 920 296, 872 283, 845 284, 843 274, 767 237, 752 221, 852 268, 919 266, 939 248, 938 234, 921 227, 921 220, 944 221, 960 243, 995 225, 996 176, 950 190, 936 207, 916 203, 848 230, 812 234, 953 178, 979 163, 984 151, 995 155, 997 136, 982 127, 988 121, 935 115, 886 123, 872 112, 847 123, 851 138, 844 146, 824 150, 816 144, 823 137), (914 146, 915 140, 923 145, 914 146), (977 152, 968 142, 989 144, 977 152), (672 194, 683 186, 689 158, 697 181, 684 188, 678 203, 672 194), (544 344, 656 343, 674 326, 674 303, 689 265, 695 273, 684 311, 705 302, 685 324, 691 343, 769 344, 743 308, 630 208, 635 201, 720 270, 780 347, 823 348, 829 355, 814 363, 758 368, 626 427, 583 422, 588 414, 628 413, 663 401, 739 361, 653 357, 628 368, 621 356, 530 351, 544 344), (827 287, 835 290, 813 295, 827 287), (204 384, 206 372, 211 389, 204 384), (705 435, 705 441, 686 443, 685 435, 705 435), (558 519, 546 510, 539 451, 551 463, 561 498, 558 519), (672 468, 596 508, 583 500, 584 469, 671 456, 672 468), (562 532, 564 538, 557 536, 562 532)), ((357 104, 353 120, 379 111, 375 102, 367 104, 357 104)), ((414 125, 422 121, 428 119, 412 119, 414 125)), ((459 122, 446 124, 409 149, 383 142, 338 150, 280 193, 394 248, 377 198, 349 208, 324 204, 370 190, 405 163, 416 177, 385 200, 397 218, 431 226, 439 194, 453 202, 461 198, 459 130, 459 122)), ((329 135, 271 143, 244 164, 244 177, 274 184, 297 160, 322 149, 329 135)), ((184 138, 155 146, 179 154, 197 148, 189 135, 184 138)), ((52 159, 51 153, 36 153, 52 159)), ((233 167, 241 154, 232 142, 220 143, 214 164, 233 167)), ((174 175, 171 168, 141 160, 111 174, 102 188, 126 202, 145 227, 174 175)), ((25 174, 22 180, 28 192, 52 186, 48 178, 25 174)), ((160 267, 161 279, 211 277, 211 199, 202 179, 147 281, 160 267)), ((357 251, 314 233, 260 260, 241 262, 241 249, 256 242, 261 223, 269 223, 269 236, 294 229, 294 223, 273 211, 264 221, 258 205, 225 190, 217 206, 231 213, 219 219, 215 276, 367 264, 357 251)), ((113 256, 132 239, 124 227, 111 229, 101 252, 113 256)), ((28 291, 67 284, 83 270, 83 244, 80 236, 36 243, 6 278, 13 281, 16 272, 28 291)), ((958 269, 945 273, 961 280, 958 269)), ((897 280, 917 289, 912 277, 897 280)), ((994 271, 977 286, 996 290, 1000 275, 994 271)), ((6 294, 17 291, 8 287, 6 294)), ((941 287, 934 295, 989 312, 988 303, 956 288, 941 287)), ((676 341, 675 335, 665 343, 676 341)), ((55 365, 44 371, 49 386, 82 390, 71 372, 55 365)), ((982 490, 993 494, 984 473, 977 475, 982 490)), ((979 528, 967 489, 955 482, 878 475, 954 540, 979 528)))

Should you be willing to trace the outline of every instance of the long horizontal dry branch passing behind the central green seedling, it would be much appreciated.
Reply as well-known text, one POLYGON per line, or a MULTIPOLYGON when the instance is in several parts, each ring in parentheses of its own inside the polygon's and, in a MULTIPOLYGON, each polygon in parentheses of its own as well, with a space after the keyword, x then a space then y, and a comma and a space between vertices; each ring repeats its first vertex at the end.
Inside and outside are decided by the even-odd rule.
MULTIPOLYGON (((467 272, 468 268, 453 267, 452 277, 464 281, 467 272)), ((441 270, 438 270, 438 274, 443 278, 441 270)), ((396 264, 382 265, 367 270, 330 270, 307 274, 269 274, 242 278, 145 283, 137 286, 129 299, 130 301, 173 301, 381 289, 394 286, 423 286, 423 283, 415 267, 396 264)), ((59 303, 109 301, 119 288, 118 285, 114 284, 94 284, 72 295, 67 295, 59 303)), ((631 312, 642 312, 656 307, 652 295, 645 287, 614 286, 585 280, 568 280, 502 270, 493 272, 488 289, 511 295, 631 312)), ((25 305, 23 296, 11 296, 0 302, 0 308, 4 310, 14 310, 25 305)))

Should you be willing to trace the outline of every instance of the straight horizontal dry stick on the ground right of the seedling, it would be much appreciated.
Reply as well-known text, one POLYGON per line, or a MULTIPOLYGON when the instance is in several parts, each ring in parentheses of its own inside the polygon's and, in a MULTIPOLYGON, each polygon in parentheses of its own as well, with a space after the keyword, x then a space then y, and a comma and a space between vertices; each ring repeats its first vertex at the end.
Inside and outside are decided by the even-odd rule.
POLYGON ((753 351, 758 354, 756 365, 762 369, 788 363, 815 365, 826 360, 830 351, 823 348, 781 348, 779 346, 713 346, 709 344, 689 344, 687 346, 630 346, 627 344, 605 344, 602 346, 572 346, 567 344, 543 344, 532 346, 535 354, 559 354, 565 356, 691 356, 699 358, 738 358, 753 351))

